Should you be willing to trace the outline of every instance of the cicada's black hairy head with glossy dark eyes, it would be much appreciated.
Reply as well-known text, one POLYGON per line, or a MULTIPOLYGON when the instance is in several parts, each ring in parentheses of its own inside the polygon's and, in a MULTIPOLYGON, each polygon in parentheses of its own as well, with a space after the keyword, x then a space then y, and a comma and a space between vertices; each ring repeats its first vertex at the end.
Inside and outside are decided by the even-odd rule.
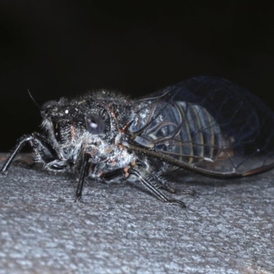
POLYGON ((110 119, 92 101, 48 101, 42 105, 41 114, 42 127, 62 158, 71 158, 82 147, 96 145, 108 136, 110 119))

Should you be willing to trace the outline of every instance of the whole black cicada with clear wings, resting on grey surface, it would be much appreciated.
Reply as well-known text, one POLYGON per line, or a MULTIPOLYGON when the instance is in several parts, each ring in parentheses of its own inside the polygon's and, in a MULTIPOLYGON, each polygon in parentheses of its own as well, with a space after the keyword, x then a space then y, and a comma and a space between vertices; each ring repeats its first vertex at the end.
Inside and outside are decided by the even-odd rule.
MULTIPOLYGON (((45 169, 101 182, 136 179, 166 203, 176 192, 162 173, 182 168, 208 177, 245 177, 274 168, 274 114, 257 97, 215 77, 195 77, 137 100, 101 90, 42 105, 45 134, 23 136, 45 169)), ((191 190, 184 192, 194 194, 191 190)))

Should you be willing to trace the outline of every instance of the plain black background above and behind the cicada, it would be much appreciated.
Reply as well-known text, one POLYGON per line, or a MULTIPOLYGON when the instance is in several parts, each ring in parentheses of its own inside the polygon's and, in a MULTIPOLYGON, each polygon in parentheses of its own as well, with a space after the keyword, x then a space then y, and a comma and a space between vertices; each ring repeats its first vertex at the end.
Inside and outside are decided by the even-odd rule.
POLYGON ((138 97, 188 77, 244 86, 274 108, 273 7, 263 1, 0 3, 0 151, 39 130, 39 104, 93 88, 138 97))

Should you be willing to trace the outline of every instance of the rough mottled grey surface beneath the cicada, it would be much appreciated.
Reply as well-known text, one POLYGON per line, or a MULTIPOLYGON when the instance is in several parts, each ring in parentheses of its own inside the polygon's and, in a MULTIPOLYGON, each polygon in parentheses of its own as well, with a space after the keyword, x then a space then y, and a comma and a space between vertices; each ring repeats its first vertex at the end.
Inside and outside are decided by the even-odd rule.
POLYGON ((182 209, 96 182, 73 203, 75 177, 12 166, 0 177, 0 273, 274 273, 273 175, 175 175, 199 192, 173 196, 182 209))

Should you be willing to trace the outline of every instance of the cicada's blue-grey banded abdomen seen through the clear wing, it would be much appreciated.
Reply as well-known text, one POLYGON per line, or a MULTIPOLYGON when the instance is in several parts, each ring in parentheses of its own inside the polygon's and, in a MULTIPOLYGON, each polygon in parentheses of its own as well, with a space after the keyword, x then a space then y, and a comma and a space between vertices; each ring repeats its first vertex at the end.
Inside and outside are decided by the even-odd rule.
POLYGON ((212 115, 200 105, 153 103, 141 110, 130 129, 134 141, 186 164, 213 162, 227 142, 212 115), (159 109, 162 112, 158 114, 159 109), (149 111, 148 111, 149 110, 149 111))

